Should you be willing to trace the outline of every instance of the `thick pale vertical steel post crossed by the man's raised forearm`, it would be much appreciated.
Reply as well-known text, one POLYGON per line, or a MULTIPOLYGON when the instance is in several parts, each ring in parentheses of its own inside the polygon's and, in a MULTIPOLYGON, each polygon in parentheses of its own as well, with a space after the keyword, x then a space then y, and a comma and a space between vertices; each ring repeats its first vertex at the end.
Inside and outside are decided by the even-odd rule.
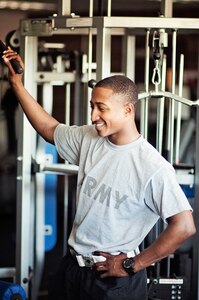
MULTIPOLYGON (((24 85, 36 98, 34 74, 37 70, 37 38, 21 38, 26 70, 24 85), (26 49, 26 51, 25 51, 26 49), (31 57, 31 60, 30 60, 31 57)), ((34 255, 34 188, 31 180, 31 158, 35 157, 36 132, 20 110, 17 154, 17 233, 16 233, 16 280, 29 293, 30 273, 34 255)))

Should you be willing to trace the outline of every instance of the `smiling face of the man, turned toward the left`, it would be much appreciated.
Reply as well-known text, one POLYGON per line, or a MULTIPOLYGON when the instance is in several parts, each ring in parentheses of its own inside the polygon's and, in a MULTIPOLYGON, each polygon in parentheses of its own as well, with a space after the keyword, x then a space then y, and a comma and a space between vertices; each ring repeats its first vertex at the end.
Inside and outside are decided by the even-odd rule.
POLYGON ((100 136, 117 144, 125 130, 126 104, 109 88, 96 87, 91 98, 91 120, 100 136))

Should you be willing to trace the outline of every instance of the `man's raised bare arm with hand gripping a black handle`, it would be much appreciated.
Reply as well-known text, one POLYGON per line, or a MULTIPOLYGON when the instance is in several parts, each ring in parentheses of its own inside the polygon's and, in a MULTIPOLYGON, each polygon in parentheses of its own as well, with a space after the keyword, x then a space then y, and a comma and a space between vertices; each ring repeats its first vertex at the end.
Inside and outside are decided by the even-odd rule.
MULTIPOLYGON (((3 52, 4 63, 7 65, 8 80, 24 113, 34 129, 48 142, 54 143, 53 134, 59 122, 49 115, 41 105, 28 93, 22 83, 22 75, 16 74, 10 64, 11 59, 16 59, 24 68, 21 57, 10 48, 3 52)), ((11 100, 12 101, 12 100, 11 100)))

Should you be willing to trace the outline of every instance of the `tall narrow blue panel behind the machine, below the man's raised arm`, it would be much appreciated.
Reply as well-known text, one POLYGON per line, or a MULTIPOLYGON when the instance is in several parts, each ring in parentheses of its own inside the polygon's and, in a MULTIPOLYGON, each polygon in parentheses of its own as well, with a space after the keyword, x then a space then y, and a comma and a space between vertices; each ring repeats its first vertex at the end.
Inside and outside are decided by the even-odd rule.
MULTIPOLYGON (((53 156, 57 162, 57 151, 54 145, 46 143, 46 154, 53 156)), ((57 175, 45 175, 45 251, 51 250, 57 241, 57 175)))

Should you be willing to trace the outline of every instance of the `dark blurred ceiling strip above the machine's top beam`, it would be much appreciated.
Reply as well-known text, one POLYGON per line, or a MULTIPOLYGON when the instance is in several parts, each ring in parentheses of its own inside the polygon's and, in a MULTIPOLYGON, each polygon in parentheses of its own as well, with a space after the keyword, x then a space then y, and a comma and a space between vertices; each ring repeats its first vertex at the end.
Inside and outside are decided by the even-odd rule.
MULTIPOLYGON (((30 16, 46 16, 58 13, 59 3, 71 3, 70 12, 89 15, 89 0, 1 0, 0 11, 23 10, 30 16), (80 5, 81 3, 81 5, 80 5)), ((168 1, 168 0, 165 0, 168 1)), ((158 16, 161 14, 159 0, 112 0, 112 15, 158 16)), ((106 15, 107 0, 94 1, 94 15, 106 15)), ((173 0, 173 17, 199 17, 199 0, 173 0)))

